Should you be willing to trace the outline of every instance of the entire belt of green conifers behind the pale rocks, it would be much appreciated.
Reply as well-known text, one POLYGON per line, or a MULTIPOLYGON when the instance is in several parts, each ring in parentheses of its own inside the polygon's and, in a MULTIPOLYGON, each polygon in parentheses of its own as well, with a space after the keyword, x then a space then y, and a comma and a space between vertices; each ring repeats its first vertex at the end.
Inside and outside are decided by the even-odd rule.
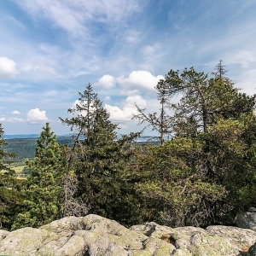
POLYGON ((9 168, 15 154, 3 150, 0 125, 0 225, 37 227, 88 212, 126 225, 232 223, 256 203, 256 117, 255 96, 225 73, 222 61, 212 78, 194 67, 170 70, 155 87, 160 113, 137 108, 133 116, 158 132, 160 145, 135 148, 139 133, 118 139, 118 125, 88 84, 71 117, 60 118, 73 131, 71 148, 47 123, 26 161, 26 184, 9 168))

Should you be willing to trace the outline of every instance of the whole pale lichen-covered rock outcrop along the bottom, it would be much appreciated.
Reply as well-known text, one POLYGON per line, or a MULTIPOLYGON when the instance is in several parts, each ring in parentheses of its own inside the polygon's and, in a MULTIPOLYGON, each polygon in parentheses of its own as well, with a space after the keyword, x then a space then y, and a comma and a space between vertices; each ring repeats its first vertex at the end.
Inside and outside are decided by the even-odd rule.
POLYGON ((255 242, 255 231, 238 227, 172 229, 150 222, 126 229, 93 214, 39 229, 0 230, 0 254, 12 256, 253 256, 255 242))

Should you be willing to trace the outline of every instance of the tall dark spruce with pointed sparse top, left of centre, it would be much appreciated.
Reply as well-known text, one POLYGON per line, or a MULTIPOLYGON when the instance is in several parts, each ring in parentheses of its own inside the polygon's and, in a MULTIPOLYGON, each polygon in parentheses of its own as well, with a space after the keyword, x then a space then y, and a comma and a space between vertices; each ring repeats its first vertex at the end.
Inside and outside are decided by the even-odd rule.
POLYGON ((118 125, 109 120, 91 84, 79 92, 76 106, 68 113, 73 117, 60 119, 73 131, 73 154, 68 165, 78 177, 77 197, 90 206, 89 212, 124 222, 130 214, 129 201, 125 202, 129 197, 124 191, 125 165, 137 134, 118 139, 118 125))

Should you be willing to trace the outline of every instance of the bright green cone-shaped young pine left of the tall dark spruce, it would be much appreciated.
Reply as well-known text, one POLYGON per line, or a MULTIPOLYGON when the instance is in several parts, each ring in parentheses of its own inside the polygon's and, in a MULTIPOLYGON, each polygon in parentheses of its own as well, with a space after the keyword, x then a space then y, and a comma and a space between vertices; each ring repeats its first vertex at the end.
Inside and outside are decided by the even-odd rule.
POLYGON ((27 210, 18 215, 13 229, 38 227, 62 217, 63 177, 67 160, 49 123, 43 127, 38 138, 34 160, 26 160, 26 165, 31 171, 27 187, 23 190, 27 210))

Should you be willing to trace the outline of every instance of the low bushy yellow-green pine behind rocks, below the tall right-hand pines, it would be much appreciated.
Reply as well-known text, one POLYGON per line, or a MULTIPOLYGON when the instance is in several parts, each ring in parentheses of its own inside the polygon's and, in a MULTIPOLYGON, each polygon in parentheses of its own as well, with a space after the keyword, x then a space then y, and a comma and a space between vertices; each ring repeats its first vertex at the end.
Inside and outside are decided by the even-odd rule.
POLYGON ((137 192, 150 212, 144 218, 171 226, 208 224, 227 193, 207 181, 204 163, 197 161, 202 152, 200 143, 177 137, 137 156, 136 172, 141 175, 137 192))

